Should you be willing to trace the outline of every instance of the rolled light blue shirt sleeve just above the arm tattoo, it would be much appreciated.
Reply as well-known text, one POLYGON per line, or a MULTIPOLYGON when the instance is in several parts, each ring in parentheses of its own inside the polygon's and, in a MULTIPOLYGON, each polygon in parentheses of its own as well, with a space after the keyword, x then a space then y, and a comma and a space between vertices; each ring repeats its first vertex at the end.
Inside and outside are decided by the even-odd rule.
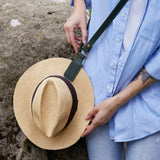
POLYGON ((145 68, 150 76, 160 80, 160 47, 146 62, 145 68))

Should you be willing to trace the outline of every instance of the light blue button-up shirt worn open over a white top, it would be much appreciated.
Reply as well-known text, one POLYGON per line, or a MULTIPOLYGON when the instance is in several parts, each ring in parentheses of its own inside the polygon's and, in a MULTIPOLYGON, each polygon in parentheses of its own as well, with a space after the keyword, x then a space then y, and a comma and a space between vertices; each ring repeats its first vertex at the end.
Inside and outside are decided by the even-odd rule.
MULTIPOLYGON (((85 3, 87 8, 92 8, 90 39, 118 0, 85 0, 85 3)), ((70 4, 73 5, 72 0, 70 4)), ((122 106, 110 120, 110 137, 116 142, 143 138, 160 130, 160 2, 146 0, 135 39, 121 55, 129 7, 130 0, 84 61, 84 70, 93 85, 95 105, 120 92, 144 66, 158 80, 122 106)))

